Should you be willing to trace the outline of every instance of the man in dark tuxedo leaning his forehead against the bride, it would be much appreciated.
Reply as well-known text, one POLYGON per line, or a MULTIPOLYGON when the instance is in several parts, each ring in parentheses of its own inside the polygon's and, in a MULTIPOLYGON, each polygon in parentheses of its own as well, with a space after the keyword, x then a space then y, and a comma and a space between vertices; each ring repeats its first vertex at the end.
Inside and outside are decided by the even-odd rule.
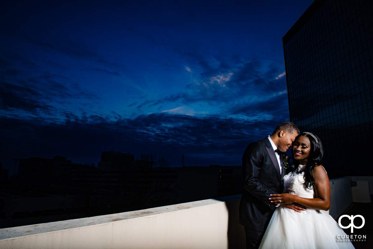
MULTIPOLYGON (((239 223, 245 226, 247 249, 260 245, 276 208, 269 195, 283 190, 283 152, 291 147, 299 133, 294 123, 281 123, 272 135, 249 144, 242 156, 244 192, 239 204, 239 223)), ((294 211, 305 210, 293 204, 282 205, 294 211)))

